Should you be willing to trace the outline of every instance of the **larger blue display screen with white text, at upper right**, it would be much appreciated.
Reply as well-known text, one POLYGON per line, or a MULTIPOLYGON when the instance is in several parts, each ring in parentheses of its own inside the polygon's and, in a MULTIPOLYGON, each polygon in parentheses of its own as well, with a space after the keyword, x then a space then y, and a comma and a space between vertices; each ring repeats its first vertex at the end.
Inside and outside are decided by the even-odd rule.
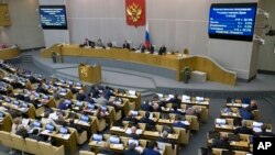
POLYGON ((253 40, 256 3, 213 3, 209 12, 210 38, 253 40))

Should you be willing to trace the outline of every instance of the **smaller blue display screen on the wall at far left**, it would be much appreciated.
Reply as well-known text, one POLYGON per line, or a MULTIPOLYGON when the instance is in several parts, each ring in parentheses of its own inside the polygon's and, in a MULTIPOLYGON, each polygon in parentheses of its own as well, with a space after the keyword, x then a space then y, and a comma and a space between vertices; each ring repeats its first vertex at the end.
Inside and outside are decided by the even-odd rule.
POLYGON ((43 29, 67 29, 65 5, 40 5, 40 20, 43 29))

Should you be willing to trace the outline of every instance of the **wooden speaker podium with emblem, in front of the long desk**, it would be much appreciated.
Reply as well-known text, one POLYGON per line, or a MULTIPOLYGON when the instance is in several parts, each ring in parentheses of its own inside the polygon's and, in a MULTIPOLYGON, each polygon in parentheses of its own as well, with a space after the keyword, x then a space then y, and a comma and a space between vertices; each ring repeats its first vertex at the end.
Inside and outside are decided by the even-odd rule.
POLYGON ((80 81, 85 82, 99 82, 101 81, 101 66, 79 64, 78 76, 80 81))

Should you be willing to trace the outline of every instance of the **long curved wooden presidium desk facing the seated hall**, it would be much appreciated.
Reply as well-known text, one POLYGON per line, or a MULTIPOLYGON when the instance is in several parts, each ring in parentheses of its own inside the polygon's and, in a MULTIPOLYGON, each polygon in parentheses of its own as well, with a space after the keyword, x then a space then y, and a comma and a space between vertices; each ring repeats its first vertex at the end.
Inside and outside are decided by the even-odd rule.
POLYGON ((81 58, 86 58, 86 60, 87 58, 99 58, 102 62, 105 59, 111 60, 112 64, 124 63, 124 65, 120 65, 120 67, 131 66, 134 64, 136 66, 148 66, 155 67, 156 69, 161 68, 168 70, 169 74, 172 74, 172 77, 178 81, 183 80, 180 70, 183 70, 185 66, 190 66, 193 70, 206 73, 207 80, 209 81, 218 81, 227 85, 235 85, 237 81, 237 74, 234 71, 227 70, 217 62, 206 56, 179 56, 178 54, 156 55, 136 53, 123 48, 87 48, 79 47, 78 44, 55 44, 50 48, 42 49, 41 56, 50 58, 54 52, 62 55, 63 59, 65 59, 64 62, 66 62, 66 58, 70 58, 67 62, 72 62, 74 59, 81 62, 81 58))

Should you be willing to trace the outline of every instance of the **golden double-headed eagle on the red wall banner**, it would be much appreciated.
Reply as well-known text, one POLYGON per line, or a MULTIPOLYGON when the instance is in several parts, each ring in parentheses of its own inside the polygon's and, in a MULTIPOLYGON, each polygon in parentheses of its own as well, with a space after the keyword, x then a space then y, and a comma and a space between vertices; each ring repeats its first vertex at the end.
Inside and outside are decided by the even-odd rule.
POLYGON ((132 3, 127 8, 127 13, 133 22, 138 22, 141 19, 142 8, 140 4, 132 3))

